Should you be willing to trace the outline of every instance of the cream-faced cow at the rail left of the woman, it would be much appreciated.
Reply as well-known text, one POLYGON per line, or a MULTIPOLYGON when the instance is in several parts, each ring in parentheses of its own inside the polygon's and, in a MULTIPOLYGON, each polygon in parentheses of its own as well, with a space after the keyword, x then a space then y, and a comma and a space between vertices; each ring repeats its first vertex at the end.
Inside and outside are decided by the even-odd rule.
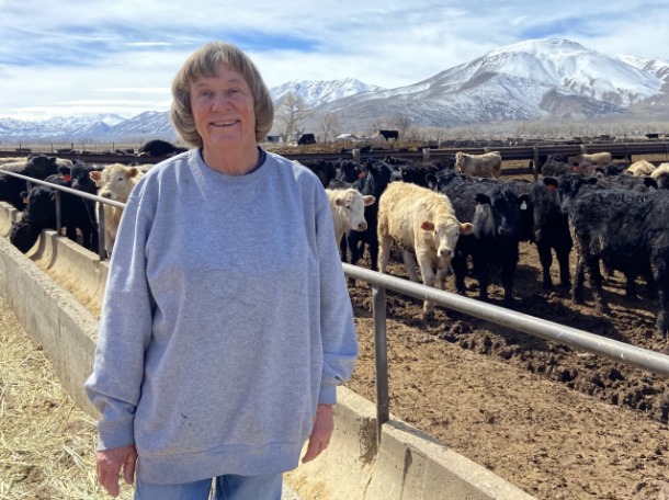
MULTIPOLYGON (((89 175, 98 186, 98 195, 115 202, 127 203, 131 192, 144 173, 136 167, 112 163, 102 171, 92 171, 89 175)), ((112 254, 122 214, 123 208, 121 207, 104 206, 104 248, 107 257, 112 254)))

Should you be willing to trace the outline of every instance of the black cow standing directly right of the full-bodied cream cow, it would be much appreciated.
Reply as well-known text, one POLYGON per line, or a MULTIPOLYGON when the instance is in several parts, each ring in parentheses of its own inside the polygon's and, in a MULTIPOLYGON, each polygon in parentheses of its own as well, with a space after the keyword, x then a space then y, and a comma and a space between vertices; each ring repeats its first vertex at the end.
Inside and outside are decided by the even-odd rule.
POLYGON ((503 304, 513 307, 513 279, 521 239, 521 204, 528 203, 529 196, 517 196, 499 181, 479 180, 451 170, 439 172, 436 191, 451 200, 458 220, 474 225, 473 234, 461 235, 451 261, 457 293, 466 294, 467 259, 472 257, 479 298, 488 300, 489 266, 497 266, 501 270, 503 304))

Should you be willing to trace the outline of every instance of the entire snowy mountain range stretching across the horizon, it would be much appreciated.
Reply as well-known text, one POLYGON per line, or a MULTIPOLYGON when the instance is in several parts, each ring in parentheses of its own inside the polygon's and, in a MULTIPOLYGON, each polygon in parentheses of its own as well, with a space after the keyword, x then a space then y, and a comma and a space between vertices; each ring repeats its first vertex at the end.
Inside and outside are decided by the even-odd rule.
MULTIPOLYGON (((277 116, 296 98, 308 109, 299 127, 318 132, 324 116, 337 129, 370 133, 394 128, 445 128, 491 122, 669 117, 669 61, 610 56, 568 39, 531 39, 496 48, 427 80, 384 89, 344 78, 292 81, 271 89, 277 116)), ((275 121, 275 128, 281 121, 275 121)), ((281 133, 276 129, 272 133, 281 133)), ((177 140, 168 112, 55 117, 42 122, 0 118, 2 140, 177 140)))

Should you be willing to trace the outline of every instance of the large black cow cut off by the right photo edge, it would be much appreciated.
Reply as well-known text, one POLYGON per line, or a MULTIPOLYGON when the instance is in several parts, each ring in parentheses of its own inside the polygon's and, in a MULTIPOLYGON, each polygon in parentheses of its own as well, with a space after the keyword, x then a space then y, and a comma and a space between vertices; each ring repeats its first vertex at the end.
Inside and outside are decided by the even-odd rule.
POLYGON ((571 175, 560 179, 558 188, 576 246, 572 300, 583 302, 587 271, 596 310, 610 314, 602 293, 600 262, 625 274, 627 295, 635 293, 635 279, 645 276, 659 298, 656 332, 666 338, 669 332, 669 194, 665 190, 646 193, 593 190, 586 186, 586 180, 571 175))

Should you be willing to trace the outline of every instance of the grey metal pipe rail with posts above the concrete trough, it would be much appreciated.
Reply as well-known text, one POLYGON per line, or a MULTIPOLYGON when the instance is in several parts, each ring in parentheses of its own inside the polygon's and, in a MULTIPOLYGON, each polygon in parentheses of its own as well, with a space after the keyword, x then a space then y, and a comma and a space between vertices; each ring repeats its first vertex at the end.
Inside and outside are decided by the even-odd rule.
MULTIPOLYGON (((104 217, 103 207, 112 205, 124 208, 125 204, 110 198, 83 193, 71 188, 65 188, 49 182, 21 175, 14 172, 3 172, 25 181, 47 185, 58 191, 81 196, 100 203, 99 207, 99 238, 100 260, 105 260, 104 252, 104 217)), ((56 211, 59 213, 59 197, 56 196, 56 211)), ((58 226, 59 219, 57 217, 58 226)), ((57 229, 60 235, 61 228, 57 229)), ((386 337, 386 289, 408 295, 421 300, 431 300, 436 305, 479 318, 492 323, 513 329, 523 333, 549 340, 572 349, 586 351, 599 356, 608 357, 628 366, 634 366, 664 377, 669 377, 669 355, 649 349, 638 348, 620 342, 606 337, 597 336, 577 328, 558 325, 534 316, 518 312, 504 307, 495 306, 475 298, 464 297, 452 292, 442 291, 409 280, 389 276, 387 274, 372 271, 359 265, 342 262, 343 272, 348 277, 362 280, 372 286, 373 294, 373 318, 374 318, 374 345, 375 345, 375 370, 376 370, 376 416, 377 425, 381 431, 383 423, 389 419, 389 390, 388 390, 388 356, 386 337)), ((377 433, 382 435, 381 432, 377 433)))

